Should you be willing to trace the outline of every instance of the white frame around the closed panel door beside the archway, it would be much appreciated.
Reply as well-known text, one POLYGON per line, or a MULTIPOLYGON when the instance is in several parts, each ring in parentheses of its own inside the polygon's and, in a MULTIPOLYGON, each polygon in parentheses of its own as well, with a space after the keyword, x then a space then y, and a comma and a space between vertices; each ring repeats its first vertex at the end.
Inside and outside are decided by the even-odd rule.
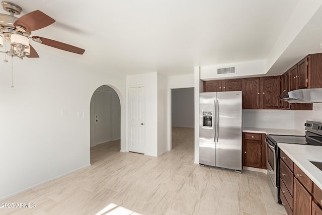
MULTIPOLYGON (((126 129, 125 129, 125 142, 126 142, 126 144, 125 144, 125 152, 128 152, 129 151, 129 88, 135 88, 135 87, 144 87, 144 115, 145 115, 145 124, 144 125, 146 125, 146 122, 147 122, 147 120, 146 120, 146 108, 147 108, 147 106, 146 106, 146 85, 128 85, 128 86, 126 86, 126 129)), ((144 129, 145 129, 145 153, 144 153, 144 155, 146 154, 146 126, 144 126, 144 129)))

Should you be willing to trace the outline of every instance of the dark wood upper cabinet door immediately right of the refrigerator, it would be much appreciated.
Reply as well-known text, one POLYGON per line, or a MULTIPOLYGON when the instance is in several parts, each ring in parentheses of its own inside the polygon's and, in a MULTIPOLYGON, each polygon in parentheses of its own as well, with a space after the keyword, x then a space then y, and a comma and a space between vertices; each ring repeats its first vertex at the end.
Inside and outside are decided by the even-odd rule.
POLYGON ((243 109, 260 109, 260 78, 243 79, 243 109))

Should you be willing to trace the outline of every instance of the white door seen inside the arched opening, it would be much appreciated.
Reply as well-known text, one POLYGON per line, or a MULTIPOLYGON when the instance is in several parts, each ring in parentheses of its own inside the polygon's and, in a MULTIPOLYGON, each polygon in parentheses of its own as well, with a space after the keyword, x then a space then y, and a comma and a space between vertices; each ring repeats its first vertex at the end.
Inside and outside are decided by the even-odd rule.
POLYGON ((95 145, 112 140, 112 92, 97 91, 94 95, 95 145))

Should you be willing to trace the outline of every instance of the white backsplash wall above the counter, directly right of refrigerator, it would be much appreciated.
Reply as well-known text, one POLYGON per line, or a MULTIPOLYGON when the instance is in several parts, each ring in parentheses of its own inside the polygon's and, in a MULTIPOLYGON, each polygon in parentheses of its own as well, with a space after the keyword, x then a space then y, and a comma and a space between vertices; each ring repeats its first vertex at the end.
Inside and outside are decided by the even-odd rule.
POLYGON ((243 110, 243 127, 294 129, 294 111, 243 110))

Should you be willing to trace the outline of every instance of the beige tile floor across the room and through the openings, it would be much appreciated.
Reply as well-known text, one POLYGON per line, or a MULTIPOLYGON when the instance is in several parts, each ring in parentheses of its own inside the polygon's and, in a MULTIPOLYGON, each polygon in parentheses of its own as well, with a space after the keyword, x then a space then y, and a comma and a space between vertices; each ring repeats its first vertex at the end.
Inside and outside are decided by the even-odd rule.
POLYGON ((192 128, 173 128, 173 150, 154 158, 120 152, 113 141, 91 149, 91 167, 3 202, 0 214, 286 214, 266 175, 194 164, 192 128))

